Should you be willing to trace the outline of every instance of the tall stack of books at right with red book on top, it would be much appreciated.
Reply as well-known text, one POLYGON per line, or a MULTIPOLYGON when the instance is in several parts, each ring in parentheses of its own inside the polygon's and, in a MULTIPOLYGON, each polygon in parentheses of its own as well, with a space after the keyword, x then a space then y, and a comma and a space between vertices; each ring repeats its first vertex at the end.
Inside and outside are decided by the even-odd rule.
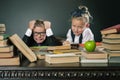
POLYGON ((102 47, 109 54, 109 63, 120 63, 120 24, 101 30, 102 47))

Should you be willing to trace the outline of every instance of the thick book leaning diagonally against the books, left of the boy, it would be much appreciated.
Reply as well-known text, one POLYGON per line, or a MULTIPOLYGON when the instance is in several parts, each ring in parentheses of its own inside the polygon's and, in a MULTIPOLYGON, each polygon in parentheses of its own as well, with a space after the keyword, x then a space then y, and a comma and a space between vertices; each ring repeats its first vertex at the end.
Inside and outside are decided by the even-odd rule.
POLYGON ((23 53, 23 55, 30 62, 34 62, 37 60, 37 57, 34 54, 34 52, 23 42, 23 40, 17 34, 14 34, 9 38, 11 42, 23 53))

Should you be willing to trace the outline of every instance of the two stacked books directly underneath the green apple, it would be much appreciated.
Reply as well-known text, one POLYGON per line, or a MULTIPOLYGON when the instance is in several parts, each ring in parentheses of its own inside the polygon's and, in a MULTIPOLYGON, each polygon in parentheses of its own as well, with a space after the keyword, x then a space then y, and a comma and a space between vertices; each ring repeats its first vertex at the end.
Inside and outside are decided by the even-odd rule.
POLYGON ((84 63, 108 63, 108 54, 106 52, 87 52, 82 51, 81 64, 84 63))

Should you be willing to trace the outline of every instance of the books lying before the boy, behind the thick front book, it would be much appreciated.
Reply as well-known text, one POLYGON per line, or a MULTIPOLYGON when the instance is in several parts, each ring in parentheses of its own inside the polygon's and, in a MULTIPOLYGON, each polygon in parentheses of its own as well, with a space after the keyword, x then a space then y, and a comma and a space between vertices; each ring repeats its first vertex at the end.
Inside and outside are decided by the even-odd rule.
POLYGON ((34 46, 30 49, 36 54, 38 59, 45 59, 46 54, 67 54, 74 53, 80 55, 81 51, 78 49, 71 49, 70 45, 67 46, 34 46))

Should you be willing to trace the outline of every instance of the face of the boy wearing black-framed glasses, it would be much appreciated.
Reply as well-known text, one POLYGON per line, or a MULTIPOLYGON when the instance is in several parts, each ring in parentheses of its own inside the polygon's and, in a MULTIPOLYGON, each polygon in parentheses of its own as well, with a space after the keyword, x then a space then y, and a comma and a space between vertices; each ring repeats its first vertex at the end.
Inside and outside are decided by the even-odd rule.
POLYGON ((37 43, 42 43, 46 39, 46 32, 44 27, 35 27, 33 29, 33 38, 37 43))

